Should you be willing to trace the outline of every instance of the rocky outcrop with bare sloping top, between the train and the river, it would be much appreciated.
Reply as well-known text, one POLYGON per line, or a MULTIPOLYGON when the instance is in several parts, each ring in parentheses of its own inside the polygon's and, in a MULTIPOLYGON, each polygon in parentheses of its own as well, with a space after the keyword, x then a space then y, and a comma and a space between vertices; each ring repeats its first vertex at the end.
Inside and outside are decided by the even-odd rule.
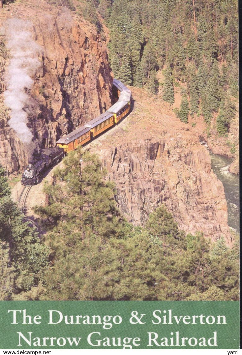
POLYGON ((101 142, 103 149, 92 148, 115 181, 121 211, 140 225, 163 203, 187 233, 203 231, 213 241, 224 236, 231 245, 224 187, 199 136, 163 114, 143 90, 132 92, 133 112, 101 142))

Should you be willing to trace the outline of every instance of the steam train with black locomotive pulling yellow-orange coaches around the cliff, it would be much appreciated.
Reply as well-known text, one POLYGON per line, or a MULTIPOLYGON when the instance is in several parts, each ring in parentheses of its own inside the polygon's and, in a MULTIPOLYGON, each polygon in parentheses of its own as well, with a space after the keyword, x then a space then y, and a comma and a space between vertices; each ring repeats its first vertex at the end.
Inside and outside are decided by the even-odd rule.
POLYGON ((42 149, 39 156, 29 162, 24 170, 21 183, 25 186, 38 184, 40 176, 51 166, 57 164, 66 153, 90 142, 94 137, 117 124, 130 112, 131 91, 121 81, 114 79, 112 83, 117 102, 105 113, 87 122, 84 126, 63 136, 56 142, 56 148, 42 149))

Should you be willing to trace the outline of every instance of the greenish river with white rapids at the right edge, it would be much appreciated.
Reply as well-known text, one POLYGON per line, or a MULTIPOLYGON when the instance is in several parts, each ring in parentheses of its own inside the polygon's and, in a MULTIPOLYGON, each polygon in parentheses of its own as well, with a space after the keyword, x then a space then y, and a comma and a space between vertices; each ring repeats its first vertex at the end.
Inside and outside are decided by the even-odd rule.
POLYGON ((218 179, 224 185, 225 197, 228 205, 228 225, 235 229, 237 233, 240 232, 240 195, 239 195, 239 176, 231 174, 228 170, 232 159, 221 157, 210 152, 212 160, 212 168, 218 179))

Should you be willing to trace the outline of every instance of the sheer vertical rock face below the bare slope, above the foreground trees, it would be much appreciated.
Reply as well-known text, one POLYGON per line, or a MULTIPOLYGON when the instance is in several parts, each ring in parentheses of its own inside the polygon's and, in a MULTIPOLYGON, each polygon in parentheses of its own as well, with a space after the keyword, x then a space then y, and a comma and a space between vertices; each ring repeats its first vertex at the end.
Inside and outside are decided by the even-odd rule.
POLYGON ((214 241, 223 235, 230 244, 224 188, 199 144, 184 151, 177 142, 138 140, 101 151, 101 158, 121 211, 135 225, 164 203, 186 232, 200 230, 214 241))

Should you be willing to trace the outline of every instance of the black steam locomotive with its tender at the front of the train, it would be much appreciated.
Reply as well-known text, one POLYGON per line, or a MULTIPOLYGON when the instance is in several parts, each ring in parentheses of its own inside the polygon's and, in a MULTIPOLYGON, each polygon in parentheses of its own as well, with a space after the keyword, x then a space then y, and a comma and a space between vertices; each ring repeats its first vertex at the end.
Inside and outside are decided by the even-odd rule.
POLYGON ((38 156, 35 156, 29 162, 26 170, 24 170, 21 184, 25 186, 38 184, 43 173, 51 166, 59 163, 64 156, 64 148, 42 149, 38 156))

